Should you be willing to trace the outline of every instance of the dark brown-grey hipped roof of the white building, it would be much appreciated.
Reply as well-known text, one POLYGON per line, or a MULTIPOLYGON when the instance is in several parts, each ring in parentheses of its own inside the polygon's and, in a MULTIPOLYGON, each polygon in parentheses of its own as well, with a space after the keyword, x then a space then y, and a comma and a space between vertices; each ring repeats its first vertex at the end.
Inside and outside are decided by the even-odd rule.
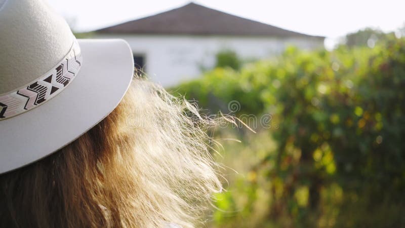
POLYGON ((306 35, 261 22, 241 18, 194 3, 99 29, 100 33, 130 34, 195 34, 195 35, 252 35, 252 36, 305 36, 324 39, 323 36, 306 35))

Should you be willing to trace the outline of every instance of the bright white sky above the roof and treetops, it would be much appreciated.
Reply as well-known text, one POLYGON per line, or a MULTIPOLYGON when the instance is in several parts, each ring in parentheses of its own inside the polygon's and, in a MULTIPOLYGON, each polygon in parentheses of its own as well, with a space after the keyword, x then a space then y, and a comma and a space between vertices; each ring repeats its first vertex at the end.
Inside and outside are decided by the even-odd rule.
MULTIPOLYGON (((48 0, 76 31, 89 31, 167 11, 189 0, 48 0)), ((312 35, 326 45, 348 32, 375 27, 393 31, 405 23, 405 0, 197 0, 233 15, 312 35)), ((330 44, 329 44, 330 43, 330 44)))

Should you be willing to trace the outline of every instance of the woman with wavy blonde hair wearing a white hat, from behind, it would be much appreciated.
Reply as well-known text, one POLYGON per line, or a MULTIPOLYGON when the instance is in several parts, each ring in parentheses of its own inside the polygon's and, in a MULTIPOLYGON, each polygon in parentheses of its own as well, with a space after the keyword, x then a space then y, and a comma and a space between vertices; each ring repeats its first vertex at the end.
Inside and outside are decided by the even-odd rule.
POLYGON ((0 21, 0 227, 201 226, 208 121, 39 0, 0 0, 0 21))

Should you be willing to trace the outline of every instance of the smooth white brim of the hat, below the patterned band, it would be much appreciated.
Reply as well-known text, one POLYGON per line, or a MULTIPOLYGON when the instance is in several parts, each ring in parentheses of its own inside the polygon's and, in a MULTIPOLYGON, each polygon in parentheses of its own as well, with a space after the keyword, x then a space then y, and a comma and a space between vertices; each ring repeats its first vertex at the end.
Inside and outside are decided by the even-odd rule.
POLYGON ((0 174, 42 159, 103 120, 133 78, 132 51, 124 40, 77 40, 83 63, 57 96, 0 121, 0 174))

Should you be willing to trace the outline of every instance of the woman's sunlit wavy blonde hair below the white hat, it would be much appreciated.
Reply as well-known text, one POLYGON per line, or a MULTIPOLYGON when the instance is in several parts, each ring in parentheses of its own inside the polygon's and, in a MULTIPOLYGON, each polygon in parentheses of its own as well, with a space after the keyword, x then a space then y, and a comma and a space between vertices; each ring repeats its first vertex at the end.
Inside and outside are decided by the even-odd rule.
POLYGON ((0 226, 201 226, 221 191, 207 124, 187 101, 134 79, 91 130, 0 175, 0 226))

